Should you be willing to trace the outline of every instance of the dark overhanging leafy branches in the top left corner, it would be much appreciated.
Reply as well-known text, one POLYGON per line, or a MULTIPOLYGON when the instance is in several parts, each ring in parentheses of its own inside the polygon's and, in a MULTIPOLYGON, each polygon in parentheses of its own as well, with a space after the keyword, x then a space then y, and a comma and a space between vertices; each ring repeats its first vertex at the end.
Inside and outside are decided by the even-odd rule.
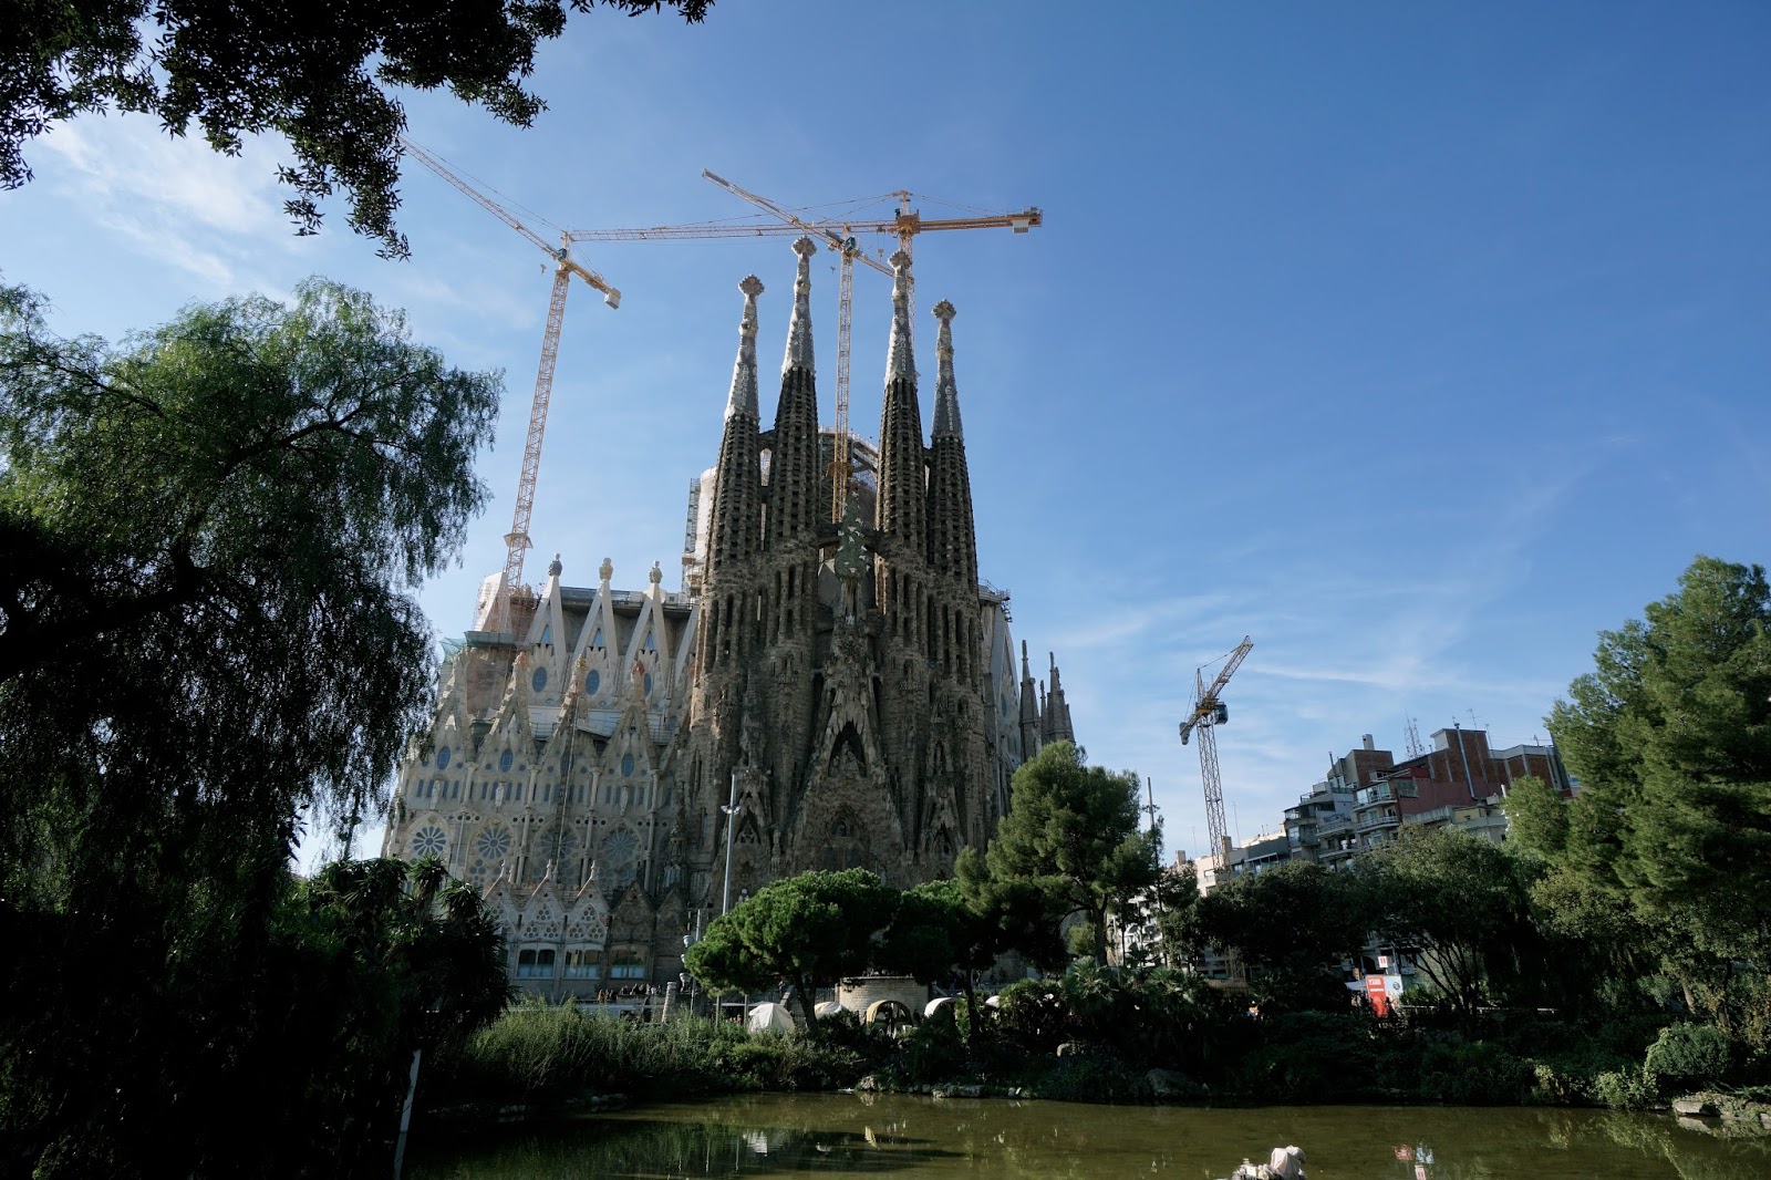
MULTIPOLYGON (((677 9, 689 23, 712 0, 602 0, 638 16, 677 9)), ((588 12, 595 0, 568 0, 588 12)), ((276 131, 296 163, 278 168, 299 232, 319 202, 351 193, 349 223, 402 257, 395 89, 448 89, 528 128, 545 103, 524 89, 542 41, 565 32, 560 0, 496 4, 230 4, 228 0, 19 0, 0 32, 0 188, 30 181, 23 145, 83 112, 140 112, 172 135, 193 128, 220 152, 276 131)))

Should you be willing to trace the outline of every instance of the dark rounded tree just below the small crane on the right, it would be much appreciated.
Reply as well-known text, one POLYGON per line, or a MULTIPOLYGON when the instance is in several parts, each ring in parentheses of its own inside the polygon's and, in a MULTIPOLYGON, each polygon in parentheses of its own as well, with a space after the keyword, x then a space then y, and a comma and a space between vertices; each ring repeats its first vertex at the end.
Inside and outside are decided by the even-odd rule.
POLYGON ((1201 932, 1240 951, 1263 1010, 1344 1008, 1337 967, 1364 950, 1373 918, 1364 873, 1307 861, 1236 877, 1199 898, 1201 932))

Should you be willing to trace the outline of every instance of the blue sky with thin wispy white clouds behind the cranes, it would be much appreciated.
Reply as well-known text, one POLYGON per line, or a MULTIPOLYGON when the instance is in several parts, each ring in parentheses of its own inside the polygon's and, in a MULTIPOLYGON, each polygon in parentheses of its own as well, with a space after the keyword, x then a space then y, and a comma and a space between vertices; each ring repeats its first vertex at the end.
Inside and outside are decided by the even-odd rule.
MULTIPOLYGON (((1700 551, 1767 556, 1767 57, 1762 4, 719 0, 692 28, 574 18, 533 78, 535 129, 441 96, 407 110, 414 140, 558 225, 742 214, 703 167, 790 206, 909 188, 1045 209, 1027 236, 919 243, 921 367, 947 298, 981 571, 1017 638, 1057 650, 1091 758, 1151 776, 1169 847, 1197 850, 1174 726, 1194 668, 1243 634, 1220 757, 1247 838, 1360 734, 1401 751, 1408 716, 1543 735, 1596 631, 1700 551)), ((503 558, 545 260, 418 165, 411 262, 375 259, 342 206, 298 239, 280 158, 80 119, 0 193, 0 269, 62 331, 103 335, 321 273, 407 308, 452 361, 505 369, 492 508, 423 592, 459 633, 503 558)), ((568 581, 611 556, 618 583, 659 560, 675 585, 737 280, 767 283, 772 358, 793 257, 584 257, 625 299, 572 294, 530 572, 558 549, 568 581)), ((813 282, 829 404, 829 255, 813 282)), ((873 434, 887 283, 855 289, 873 434)))

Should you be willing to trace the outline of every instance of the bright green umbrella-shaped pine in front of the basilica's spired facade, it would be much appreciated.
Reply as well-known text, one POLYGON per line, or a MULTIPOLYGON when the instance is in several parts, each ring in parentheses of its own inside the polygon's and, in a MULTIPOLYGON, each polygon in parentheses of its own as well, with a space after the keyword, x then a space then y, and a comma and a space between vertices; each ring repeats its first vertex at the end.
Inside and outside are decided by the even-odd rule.
POLYGON ((684 966, 710 990, 792 985, 816 1036, 816 989, 868 969, 896 904, 898 891, 864 868, 786 877, 715 918, 684 966))

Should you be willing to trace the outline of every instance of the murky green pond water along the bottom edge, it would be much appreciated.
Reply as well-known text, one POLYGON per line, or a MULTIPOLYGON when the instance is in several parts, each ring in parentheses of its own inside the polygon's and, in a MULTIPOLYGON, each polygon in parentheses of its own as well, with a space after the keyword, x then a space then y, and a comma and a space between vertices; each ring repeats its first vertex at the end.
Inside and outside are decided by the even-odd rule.
POLYGON ((1714 1120, 1489 1107, 1187 1109, 765 1095, 420 1145, 409 1176, 1226 1176, 1295 1143, 1311 1180, 1771 1180, 1771 1136, 1714 1120))

